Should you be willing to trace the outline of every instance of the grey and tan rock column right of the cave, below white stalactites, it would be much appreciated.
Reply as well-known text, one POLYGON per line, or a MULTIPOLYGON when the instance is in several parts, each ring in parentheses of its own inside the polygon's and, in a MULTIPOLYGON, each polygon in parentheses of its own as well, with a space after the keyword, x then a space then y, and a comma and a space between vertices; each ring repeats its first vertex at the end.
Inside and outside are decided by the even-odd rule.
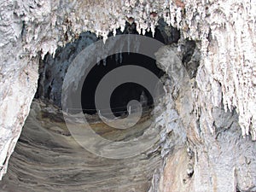
MULTIPOLYGON (((221 102, 211 110, 215 131, 212 136, 206 123, 207 108, 201 107, 198 117, 196 113, 195 93, 200 85, 189 73, 183 72, 183 68, 177 68, 183 61, 180 50, 168 46, 157 53, 159 66, 172 74, 168 82, 171 96, 163 104, 167 108, 167 125, 163 126, 167 135, 162 138, 166 138, 169 154, 163 160, 163 169, 154 176, 158 180, 154 181, 151 191, 255 191, 256 143, 249 137, 241 137, 236 110, 225 112, 221 102), (174 117, 182 124, 178 130, 171 124, 174 117)), ((198 59, 195 49, 190 62, 198 59)), ((186 70, 189 72, 191 68, 186 70)), ((218 94, 221 99, 221 90, 218 94)))

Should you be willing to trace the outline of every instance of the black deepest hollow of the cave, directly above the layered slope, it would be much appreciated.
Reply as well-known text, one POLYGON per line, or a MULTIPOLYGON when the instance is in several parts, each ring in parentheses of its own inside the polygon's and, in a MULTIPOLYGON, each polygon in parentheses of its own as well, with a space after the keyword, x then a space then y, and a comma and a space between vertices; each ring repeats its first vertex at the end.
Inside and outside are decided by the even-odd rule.
MULTIPOLYGON (((104 61, 100 61, 96 66, 92 67, 90 73, 84 79, 84 84, 81 92, 81 106, 84 113, 95 114, 99 109, 96 109, 95 94, 97 84, 101 79, 111 72, 113 69, 135 65, 144 67, 151 73, 154 73, 159 79, 163 76, 164 72, 156 66, 155 60, 137 53, 121 53, 121 55, 109 55, 104 61)), ((157 84, 155 84, 155 87, 157 84)), ((124 116, 128 113, 127 104, 131 100, 141 102, 143 106, 143 113, 148 109, 154 108, 153 97, 149 94, 148 90, 140 84, 127 82, 120 84, 110 97, 111 111, 114 116, 124 116)), ((132 108, 132 107, 131 107, 132 108)), ((100 109, 104 115, 105 108, 100 109)))

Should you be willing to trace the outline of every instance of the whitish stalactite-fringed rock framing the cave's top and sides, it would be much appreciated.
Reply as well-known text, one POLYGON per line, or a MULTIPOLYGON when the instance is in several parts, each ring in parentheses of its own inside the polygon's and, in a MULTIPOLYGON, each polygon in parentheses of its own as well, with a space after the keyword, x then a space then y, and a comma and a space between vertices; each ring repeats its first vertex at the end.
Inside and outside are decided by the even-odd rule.
MULTIPOLYGON (((82 31, 104 39, 135 20, 137 31, 152 30, 160 17, 201 41, 201 64, 193 92, 195 118, 216 135, 212 110, 236 108, 242 135, 256 140, 254 1, 3 1, 1 35, 0 167, 6 172, 38 79, 38 55, 55 54, 82 31), (10 84, 12 84, 10 86, 10 84), (7 157, 7 158, 6 158, 7 157)), ((196 131, 196 129, 191 128, 196 131)), ((201 136, 204 138, 204 135, 201 136)))

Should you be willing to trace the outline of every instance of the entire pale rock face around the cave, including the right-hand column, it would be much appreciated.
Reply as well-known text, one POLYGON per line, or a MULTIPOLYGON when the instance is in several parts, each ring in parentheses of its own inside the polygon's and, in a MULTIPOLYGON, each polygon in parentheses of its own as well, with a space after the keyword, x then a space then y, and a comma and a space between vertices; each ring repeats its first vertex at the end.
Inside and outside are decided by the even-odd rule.
POLYGON ((82 32, 106 41, 109 32, 129 32, 125 23, 136 23, 138 33, 154 34, 163 19, 169 25, 163 37, 173 38, 173 26, 180 39, 156 54, 170 79, 156 122, 161 164, 154 167, 149 190, 256 191, 255 17, 250 0, 3 0, 0 178, 36 93, 40 58, 55 57, 58 46, 82 32))

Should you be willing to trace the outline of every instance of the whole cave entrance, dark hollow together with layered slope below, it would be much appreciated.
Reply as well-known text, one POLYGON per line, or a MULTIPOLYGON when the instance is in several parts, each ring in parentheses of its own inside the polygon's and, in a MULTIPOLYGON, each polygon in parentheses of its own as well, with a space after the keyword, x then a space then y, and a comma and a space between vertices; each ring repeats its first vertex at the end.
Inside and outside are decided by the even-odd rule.
MULTIPOLYGON (((134 28, 136 28, 134 25, 130 25, 125 30, 131 32, 134 28)), ((151 36, 152 34, 146 33, 146 35, 151 36)), ((167 28, 166 25, 162 24, 156 29, 155 38, 158 37, 165 41, 165 44, 172 44, 177 43, 179 34, 177 29, 167 28)), ((143 137, 144 133, 150 133, 148 129, 162 130, 161 134, 164 133, 164 135, 161 135, 161 137, 165 138, 166 141, 159 140, 146 152, 142 151, 141 155, 121 160, 105 159, 81 148, 73 140, 63 120, 61 87, 67 73, 67 68, 84 47, 95 43, 97 40, 98 38, 95 34, 84 32, 73 43, 67 44, 64 48, 58 48, 55 57, 46 55, 44 61, 40 61, 38 92, 32 104, 32 113, 26 119, 20 140, 15 148, 15 154, 10 160, 9 172, 4 181, 6 183, 4 185, 7 185, 6 189, 13 188, 19 191, 55 189, 66 189, 68 191, 83 191, 84 189, 89 191, 112 191, 118 186, 123 191, 131 190, 131 188, 136 191, 148 191, 150 188, 152 183, 151 176, 154 174, 156 167, 160 166, 160 159, 172 147, 169 146, 170 140, 167 139, 175 134, 169 134, 169 132, 165 131, 165 126, 171 125, 169 124, 171 118, 167 116, 170 113, 166 113, 167 122, 158 119, 152 123, 151 119, 143 117, 137 125, 125 130, 112 129, 102 122, 94 121, 94 118, 92 118, 94 122, 90 124, 91 128, 96 134, 110 140, 110 143, 114 141, 123 143, 132 139, 144 143, 145 138, 153 140, 154 138, 158 139, 157 136, 159 136, 155 134, 153 136, 156 137, 143 137), (22 164, 20 164, 20 160, 22 160, 22 164), (35 184, 42 182, 43 184, 35 184)), ((168 59, 172 57, 166 57, 164 54, 162 57, 167 58, 168 65, 160 67, 165 70, 166 76, 169 78, 170 74, 166 67, 171 66, 169 61, 176 60, 168 59)), ((125 65, 144 67, 154 73, 159 79, 163 78, 164 73, 156 66, 155 61, 145 55, 126 52, 118 56, 110 55, 100 61, 98 65, 92 67, 86 79, 83 79, 84 82, 79 97, 81 98, 80 104, 84 113, 97 113, 94 98, 96 85, 104 75, 113 69, 125 65)), ((177 68, 176 72, 180 72, 180 68, 177 68)), ((176 73, 174 76, 177 76, 176 73)), ((164 80, 166 81, 167 78, 164 80)), ((165 85, 167 88, 171 86, 169 81, 166 81, 165 85)), ((120 84, 113 90, 110 98, 110 107, 113 114, 119 117, 123 113, 127 113, 127 102, 137 100, 145 103, 143 110, 147 111, 148 108, 155 107, 155 114, 159 115, 158 117, 160 115, 163 116, 162 113, 166 110, 166 103, 169 98, 166 98, 166 102, 161 102, 157 107, 158 103, 154 103, 152 99, 148 90, 139 84, 120 84)), ((168 103, 170 104, 170 102, 168 103)), ((82 113, 82 115, 84 114, 82 113)), ((173 122, 175 123, 176 120, 173 122)), ((175 125, 173 126, 175 127, 175 125)), ((84 139, 84 142, 86 141, 92 141, 92 139, 84 139)), ((129 147, 129 145, 127 146, 129 147)), ((138 147, 136 145, 136 148, 138 147)), ((126 150, 120 149, 126 153, 126 150)))

